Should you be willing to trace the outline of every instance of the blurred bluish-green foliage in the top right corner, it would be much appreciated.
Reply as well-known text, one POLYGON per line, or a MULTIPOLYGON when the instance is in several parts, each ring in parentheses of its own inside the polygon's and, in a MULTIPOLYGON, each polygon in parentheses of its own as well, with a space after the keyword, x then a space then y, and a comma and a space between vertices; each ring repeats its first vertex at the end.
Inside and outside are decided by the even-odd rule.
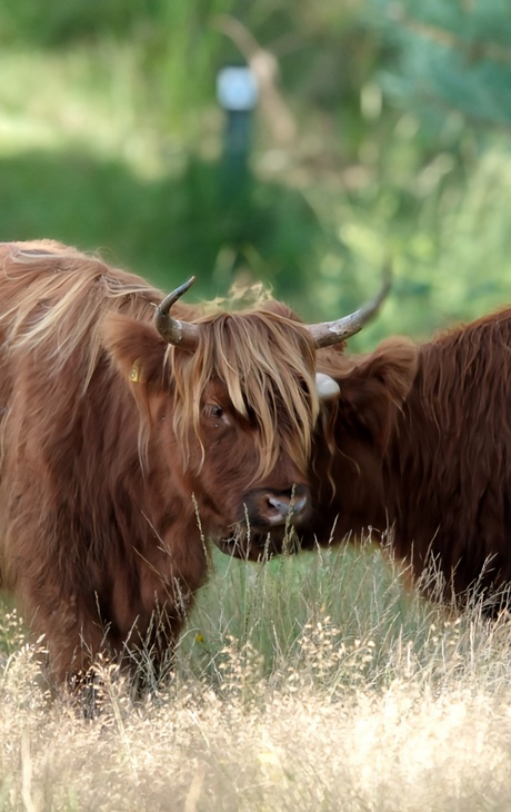
POLYGON ((387 85, 437 127, 457 110, 477 125, 511 123, 507 0, 377 0, 399 72, 387 85))

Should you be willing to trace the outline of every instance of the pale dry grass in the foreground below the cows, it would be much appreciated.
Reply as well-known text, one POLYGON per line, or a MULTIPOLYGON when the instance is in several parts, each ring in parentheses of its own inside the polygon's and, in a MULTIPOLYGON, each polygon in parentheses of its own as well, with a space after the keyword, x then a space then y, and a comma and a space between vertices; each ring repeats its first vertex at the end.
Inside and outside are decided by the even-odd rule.
POLYGON ((92 721, 38 684, 14 613, 4 632, 2 810, 511 808, 508 618, 407 596, 374 551, 231 564, 169 682, 133 704, 106 667, 92 721))

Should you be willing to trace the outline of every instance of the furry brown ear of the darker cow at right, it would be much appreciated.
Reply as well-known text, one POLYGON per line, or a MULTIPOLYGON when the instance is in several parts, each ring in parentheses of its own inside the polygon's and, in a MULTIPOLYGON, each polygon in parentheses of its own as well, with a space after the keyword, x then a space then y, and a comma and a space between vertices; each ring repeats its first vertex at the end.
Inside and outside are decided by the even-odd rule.
POLYGON ((417 345, 404 338, 389 338, 339 379, 341 414, 381 453, 412 387, 417 364, 417 345))

